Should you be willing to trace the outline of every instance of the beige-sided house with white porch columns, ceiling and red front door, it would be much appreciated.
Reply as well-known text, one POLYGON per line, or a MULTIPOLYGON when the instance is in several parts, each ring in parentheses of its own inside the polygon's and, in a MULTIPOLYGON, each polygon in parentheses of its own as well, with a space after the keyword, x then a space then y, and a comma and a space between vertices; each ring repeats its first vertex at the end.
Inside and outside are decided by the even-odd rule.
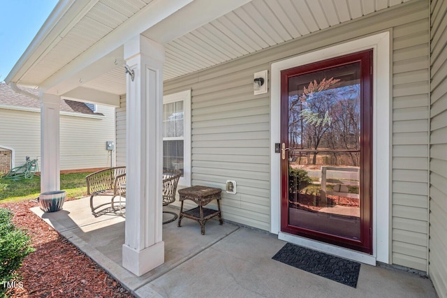
MULTIPOLYGON (((447 0, 68 2, 6 82, 41 86, 45 114, 57 98, 117 107, 133 198, 126 269, 163 263, 164 165, 183 170, 182 187, 236 181, 227 220, 427 272, 447 297, 447 0), (313 191, 298 193, 298 167, 313 191), (356 209, 332 208, 340 198, 356 209)), ((42 122, 53 145, 54 123, 42 122)), ((59 187, 58 172, 47 165, 43 190, 59 187)))

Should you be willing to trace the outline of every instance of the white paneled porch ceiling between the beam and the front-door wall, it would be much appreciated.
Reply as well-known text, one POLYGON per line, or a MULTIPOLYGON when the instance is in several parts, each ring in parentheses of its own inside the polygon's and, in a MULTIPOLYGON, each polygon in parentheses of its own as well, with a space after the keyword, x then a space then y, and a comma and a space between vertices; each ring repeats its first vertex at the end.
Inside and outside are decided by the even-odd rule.
POLYGON ((253 0, 166 45, 164 80, 409 0, 253 0))

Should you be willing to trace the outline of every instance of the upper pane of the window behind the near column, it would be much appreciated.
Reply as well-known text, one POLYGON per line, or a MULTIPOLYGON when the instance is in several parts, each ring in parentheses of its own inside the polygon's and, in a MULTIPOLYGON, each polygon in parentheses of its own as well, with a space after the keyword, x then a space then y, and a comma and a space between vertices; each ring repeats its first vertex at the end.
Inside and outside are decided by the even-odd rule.
POLYGON ((183 101, 163 105, 163 137, 183 137, 183 122, 183 101))

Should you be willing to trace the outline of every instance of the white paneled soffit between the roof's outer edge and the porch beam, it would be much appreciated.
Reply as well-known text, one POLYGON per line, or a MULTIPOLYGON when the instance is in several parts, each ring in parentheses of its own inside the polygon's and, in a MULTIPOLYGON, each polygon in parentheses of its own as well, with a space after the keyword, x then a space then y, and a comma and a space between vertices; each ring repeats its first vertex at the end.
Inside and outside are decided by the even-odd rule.
MULTIPOLYGON (((59 1, 57 5, 59 6, 61 2, 64 1, 59 1)), ((78 1, 78 3, 74 1, 64 12, 64 17, 68 19, 69 15, 75 12, 78 12, 77 15, 71 22, 66 20, 67 24, 64 24, 64 19, 61 19, 59 21, 61 24, 58 23, 60 32, 55 32, 58 30, 52 29, 47 33, 48 36, 56 35, 54 40, 38 58, 30 61, 33 63, 32 66, 26 73, 20 73, 21 77, 18 83, 38 86, 57 70, 66 66, 82 52, 117 29, 119 25, 129 20, 150 2, 152 0, 93 0, 78 1)), ((55 10, 57 8, 56 6, 55 10)), ((22 71, 24 72, 24 70, 22 71)))

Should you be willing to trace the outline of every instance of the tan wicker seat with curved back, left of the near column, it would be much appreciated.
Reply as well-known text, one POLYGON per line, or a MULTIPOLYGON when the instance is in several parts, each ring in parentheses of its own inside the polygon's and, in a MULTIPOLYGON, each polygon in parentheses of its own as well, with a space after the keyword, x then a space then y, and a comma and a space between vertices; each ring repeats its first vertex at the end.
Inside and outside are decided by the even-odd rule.
POLYGON ((87 195, 90 195, 90 208, 91 213, 96 215, 96 209, 104 206, 100 204, 94 206, 93 198, 96 195, 111 195, 112 196, 112 209, 113 199, 117 195, 123 195, 122 186, 126 183, 126 167, 110 167, 105 170, 94 172, 85 177, 87 181, 87 195))

